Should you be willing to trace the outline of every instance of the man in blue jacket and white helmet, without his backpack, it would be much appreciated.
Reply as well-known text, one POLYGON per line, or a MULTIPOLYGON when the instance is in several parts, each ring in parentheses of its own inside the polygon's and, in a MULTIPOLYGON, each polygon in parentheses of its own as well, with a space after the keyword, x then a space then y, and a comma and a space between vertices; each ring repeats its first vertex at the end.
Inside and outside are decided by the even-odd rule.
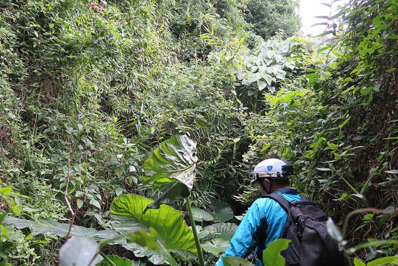
MULTIPOLYGON (((293 166, 279 159, 267 159, 256 165, 251 184, 258 185, 263 195, 280 194, 289 201, 300 200, 296 189, 290 187, 289 175, 293 166)), ((274 240, 280 238, 286 223, 287 213, 273 199, 259 198, 253 202, 230 241, 229 248, 215 266, 223 266, 222 257, 247 258, 253 253, 262 266, 263 251, 274 240)), ((264 258, 265 260, 267 258, 264 258)))

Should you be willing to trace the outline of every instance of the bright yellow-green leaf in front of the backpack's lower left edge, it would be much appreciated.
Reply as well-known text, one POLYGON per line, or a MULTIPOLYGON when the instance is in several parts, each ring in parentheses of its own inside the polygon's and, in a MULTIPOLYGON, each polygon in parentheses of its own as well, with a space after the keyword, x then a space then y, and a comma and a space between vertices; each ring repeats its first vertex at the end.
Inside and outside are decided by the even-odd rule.
POLYGON ((264 266, 285 266, 285 258, 281 256, 281 252, 289 247, 289 239, 277 239, 268 245, 263 253, 264 266))

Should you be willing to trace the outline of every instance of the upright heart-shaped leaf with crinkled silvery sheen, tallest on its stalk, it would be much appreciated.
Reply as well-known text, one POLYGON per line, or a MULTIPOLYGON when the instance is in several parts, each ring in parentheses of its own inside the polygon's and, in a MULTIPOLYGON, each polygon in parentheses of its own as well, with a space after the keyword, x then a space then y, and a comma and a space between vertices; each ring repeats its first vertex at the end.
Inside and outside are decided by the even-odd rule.
POLYGON ((152 183, 153 190, 171 182, 181 182, 192 189, 197 160, 196 142, 187 135, 174 136, 160 143, 145 160, 142 183, 152 183))

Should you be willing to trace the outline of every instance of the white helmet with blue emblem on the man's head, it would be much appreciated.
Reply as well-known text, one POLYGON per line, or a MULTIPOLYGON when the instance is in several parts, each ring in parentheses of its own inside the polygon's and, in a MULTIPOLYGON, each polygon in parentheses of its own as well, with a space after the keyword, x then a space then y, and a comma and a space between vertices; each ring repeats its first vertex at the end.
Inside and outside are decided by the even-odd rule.
POLYGON ((263 160, 254 167, 254 171, 249 174, 253 178, 250 184, 257 182, 260 178, 267 179, 287 179, 293 174, 293 166, 279 159, 263 160))

